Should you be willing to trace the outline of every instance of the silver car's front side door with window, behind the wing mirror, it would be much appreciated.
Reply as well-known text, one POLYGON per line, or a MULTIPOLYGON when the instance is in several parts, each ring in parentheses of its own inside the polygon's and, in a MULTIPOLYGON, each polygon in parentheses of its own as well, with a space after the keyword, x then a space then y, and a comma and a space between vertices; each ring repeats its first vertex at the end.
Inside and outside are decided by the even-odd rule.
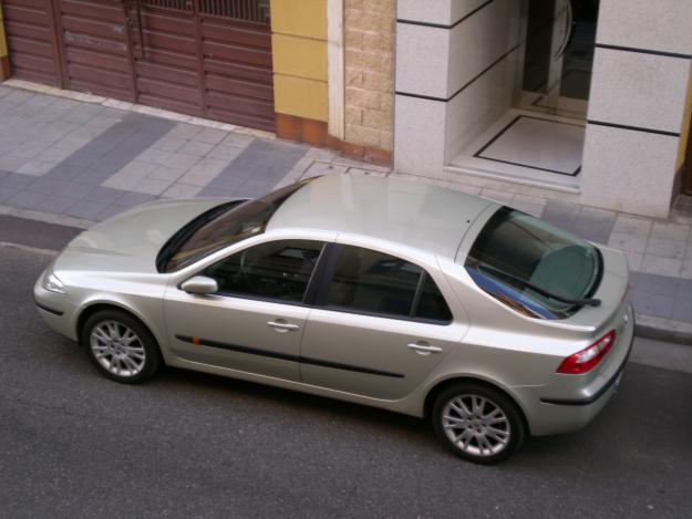
POLYGON ((211 295, 166 291, 168 344, 178 357, 283 380, 299 380, 303 298, 323 243, 273 240, 215 263, 202 276, 211 295))

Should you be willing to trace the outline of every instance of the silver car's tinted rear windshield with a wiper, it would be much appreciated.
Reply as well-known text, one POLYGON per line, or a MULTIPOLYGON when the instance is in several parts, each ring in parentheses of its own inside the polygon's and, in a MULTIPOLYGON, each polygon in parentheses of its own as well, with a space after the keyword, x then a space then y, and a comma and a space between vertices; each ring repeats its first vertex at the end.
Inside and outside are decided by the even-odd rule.
POLYGON ((598 288, 601 257, 569 232, 505 207, 481 231, 465 267, 503 303, 531 316, 565 319, 581 308, 575 301, 598 288))

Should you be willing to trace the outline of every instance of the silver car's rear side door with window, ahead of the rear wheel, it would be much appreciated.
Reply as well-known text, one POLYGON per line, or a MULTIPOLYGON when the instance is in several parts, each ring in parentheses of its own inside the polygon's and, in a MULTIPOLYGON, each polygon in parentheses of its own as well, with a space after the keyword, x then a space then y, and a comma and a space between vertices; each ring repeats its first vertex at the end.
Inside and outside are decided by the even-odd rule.
POLYGON ((414 391, 459 343, 434 279, 413 262, 338 246, 306 325, 306 384, 399 399, 414 391), (330 274, 329 270, 333 269, 330 274))

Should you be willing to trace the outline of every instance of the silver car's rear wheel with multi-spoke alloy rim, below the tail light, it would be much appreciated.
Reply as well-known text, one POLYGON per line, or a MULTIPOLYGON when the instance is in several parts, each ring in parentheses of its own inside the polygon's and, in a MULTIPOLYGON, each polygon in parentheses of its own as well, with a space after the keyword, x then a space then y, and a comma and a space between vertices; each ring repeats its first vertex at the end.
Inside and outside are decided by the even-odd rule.
POLYGON ((517 405, 483 384, 447 387, 435 399, 431 418, 440 442, 456 456, 476 464, 506 459, 521 446, 526 435, 517 405))

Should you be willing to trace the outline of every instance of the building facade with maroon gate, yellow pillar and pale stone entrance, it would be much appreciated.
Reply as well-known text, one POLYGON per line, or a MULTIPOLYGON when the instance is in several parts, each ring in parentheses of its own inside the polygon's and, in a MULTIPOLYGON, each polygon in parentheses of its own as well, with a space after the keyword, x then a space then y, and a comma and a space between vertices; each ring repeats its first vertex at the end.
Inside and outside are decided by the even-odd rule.
POLYGON ((689 0, 0 6, 6 76, 632 214, 692 181, 689 0))

